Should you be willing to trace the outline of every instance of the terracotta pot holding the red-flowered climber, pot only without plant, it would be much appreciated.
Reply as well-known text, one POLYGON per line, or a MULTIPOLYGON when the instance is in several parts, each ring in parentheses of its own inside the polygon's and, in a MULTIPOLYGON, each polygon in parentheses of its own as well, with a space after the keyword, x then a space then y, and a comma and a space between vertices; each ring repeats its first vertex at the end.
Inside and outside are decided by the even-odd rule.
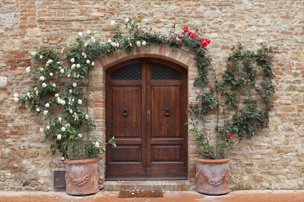
POLYGON ((229 161, 230 158, 218 160, 196 158, 196 190, 211 195, 228 193, 229 161))

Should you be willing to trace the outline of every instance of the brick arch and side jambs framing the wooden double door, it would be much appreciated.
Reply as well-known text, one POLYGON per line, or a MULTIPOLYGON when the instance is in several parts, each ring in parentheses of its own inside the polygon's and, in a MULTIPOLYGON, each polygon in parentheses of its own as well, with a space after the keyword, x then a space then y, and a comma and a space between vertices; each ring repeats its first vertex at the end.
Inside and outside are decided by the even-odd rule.
MULTIPOLYGON (((100 140, 105 140, 105 70, 120 62, 139 57, 162 58, 187 69, 187 98, 189 102, 196 101, 195 95, 192 93, 196 91, 193 83, 195 77, 198 76, 195 51, 183 47, 171 48, 168 45, 151 45, 149 48, 136 47, 131 52, 116 51, 110 56, 99 57, 95 61, 94 69, 90 71, 89 114, 96 121, 96 134, 100 140)), ((188 181, 194 185, 195 158, 199 156, 201 151, 196 149, 196 142, 191 140, 192 134, 188 133, 188 181)), ((102 154, 98 155, 98 157, 100 158, 99 176, 103 180, 105 177, 105 158, 102 154)))

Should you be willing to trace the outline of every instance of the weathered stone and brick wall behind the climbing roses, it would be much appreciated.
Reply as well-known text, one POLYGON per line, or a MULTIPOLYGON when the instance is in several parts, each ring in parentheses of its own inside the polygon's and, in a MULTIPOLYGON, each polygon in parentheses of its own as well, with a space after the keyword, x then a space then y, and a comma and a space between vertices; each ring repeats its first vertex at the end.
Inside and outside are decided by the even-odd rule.
MULTIPOLYGON (((138 16, 143 28, 169 33, 202 28, 211 39, 208 46, 213 66, 222 71, 229 50, 241 42, 257 50, 261 42, 279 45, 274 60, 280 91, 275 96, 271 127, 261 131, 234 152, 232 189, 302 189, 304 137, 304 19, 303 1, 2 1, 0 5, 0 188, 5 190, 52 190, 54 168, 64 167, 59 155, 39 129, 44 118, 13 101, 32 83, 25 68, 32 50, 40 46, 66 47, 77 32, 92 30, 101 38, 112 35, 110 22, 123 23, 138 16)), ((151 49, 143 52, 151 53, 151 49)), ((115 58, 114 58, 115 59, 115 58)), ((104 69, 95 70, 95 89, 90 92, 91 115, 104 136, 104 69), (99 79, 99 80, 98 80, 99 79), (96 92, 94 92, 96 91, 96 92), (94 110, 93 110, 94 107, 94 110)), ((118 63, 118 62, 113 62, 118 63)), ((188 68, 188 95, 194 100, 193 79, 188 68)), ((189 181, 195 175, 194 158, 200 150, 189 135, 189 181)), ((101 161, 104 163, 104 160, 101 161)), ((104 168, 101 165, 100 168, 104 168)), ((103 173, 101 171, 101 178, 103 173)))

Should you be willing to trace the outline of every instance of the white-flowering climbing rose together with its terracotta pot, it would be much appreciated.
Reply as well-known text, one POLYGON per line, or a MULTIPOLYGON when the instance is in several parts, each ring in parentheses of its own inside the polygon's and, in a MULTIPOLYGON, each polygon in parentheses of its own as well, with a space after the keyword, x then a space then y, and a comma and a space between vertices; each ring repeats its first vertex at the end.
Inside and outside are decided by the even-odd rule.
POLYGON ((90 83, 87 75, 94 66, 94 50, 86 50, 80 38, 78 42, 63 52, 66 55, 62 58, 46 47, 31 52, 38 62, 36 66, 26 67, 26 71, 36 77, 39 84, 25 97, 15 95, 15 101, 26 103, 35 113, 45 115, 48 123, 40 132, 45 134, 46 141, 52 142, 52 154, 58 151, 64 160, 66 192, 71 195, 99 191, 96 155, 105 152, 106 144, 115 146, 113 138, 104 142, 90 133, 96 127, 88 115, 90 86, 81 85, 85 78, 90 83))

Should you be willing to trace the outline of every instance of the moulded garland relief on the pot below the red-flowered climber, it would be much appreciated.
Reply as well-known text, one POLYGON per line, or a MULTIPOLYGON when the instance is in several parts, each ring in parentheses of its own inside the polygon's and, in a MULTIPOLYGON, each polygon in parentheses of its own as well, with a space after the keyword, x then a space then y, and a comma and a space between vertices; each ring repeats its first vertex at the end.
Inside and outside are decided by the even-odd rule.
POLYGON ((197 172, 195 175, 195 181, 198 181, 199 179, 200 182, 203 184, 204 181, 207 181, 208 184, 212 186, 219 186, 223 181, 225 181, 225 184, 229 184, 229 170, 226 169, 223 174, 220 177, 217 178, 210 178, 202 169, 201 171, 197 172))

